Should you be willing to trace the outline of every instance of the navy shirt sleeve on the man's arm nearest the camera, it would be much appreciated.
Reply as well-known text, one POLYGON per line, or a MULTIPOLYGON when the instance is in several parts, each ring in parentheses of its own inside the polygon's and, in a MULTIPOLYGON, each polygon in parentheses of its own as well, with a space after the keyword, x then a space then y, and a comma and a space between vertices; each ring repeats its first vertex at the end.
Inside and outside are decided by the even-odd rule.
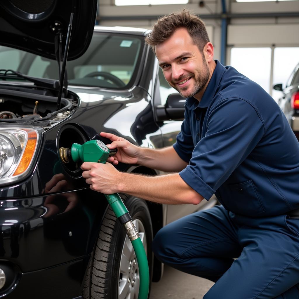
POLYGON ((242 98, 219 100, 210 109, 207 132, 179 175, 205 199, 228 179, 265 133, 257 108, 242 98))

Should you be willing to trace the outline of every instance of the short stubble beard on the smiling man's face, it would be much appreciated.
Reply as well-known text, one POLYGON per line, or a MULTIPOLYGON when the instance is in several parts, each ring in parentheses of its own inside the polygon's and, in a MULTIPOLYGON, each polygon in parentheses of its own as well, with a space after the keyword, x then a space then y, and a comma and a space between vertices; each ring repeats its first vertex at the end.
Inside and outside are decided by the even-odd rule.
POLYGON ((170 86, 176 89, 176 91, 179 92, 181 97, 193 97, 195 94, 202 91, 202 89, 207 84, 209 78, 210 78, 210 69, 208 67, 208 63, 205 61, 205 59, 202 60, 203 62, 203 68, 202 70, 198 71, 198 77, 196 78, 194 74, 188 74, 180 77, 177 81, 181 81, 188 78, 193 78, 194 80, 194 86, 190 91, 187 91, 189 86, 183 87, 183 88, 177 88, 177 84, 174 81, 171 81, 170 86))

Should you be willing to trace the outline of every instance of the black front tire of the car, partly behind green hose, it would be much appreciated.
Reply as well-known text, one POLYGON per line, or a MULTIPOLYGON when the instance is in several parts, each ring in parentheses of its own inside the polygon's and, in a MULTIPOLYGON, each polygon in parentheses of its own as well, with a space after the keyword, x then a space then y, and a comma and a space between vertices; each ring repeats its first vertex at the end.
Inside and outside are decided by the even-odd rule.
MULTIPOLYGON (((141 232, 140 237, 142 239, 142 236, 146 236, 146 251, 151 282, 153 233, 152 222, 147 204, 144 200, 136 197, 126 195, 121 195, 121 197, 129 210, 133 222, 137 222, 137 224, 141 223, 143 226, 141 230, 144 230, 144 234, 141 232)), ((134 270, 135 276, 133 277, 133 272, 130 272, 127 273, 129 275, 129 277, 127 277, 126 273, 123 271, 123 266, 126 265, 126 258, 124 257, 121 269, 122 273, 120 272, 120 261, 122 256, 125 255, 123 254, 123 249, 126 249, 126 252, 128 251, 128 242, 130 244, 129 238, 126 235, 123 226, 120 225, 118 219, 114 215, 114 212, 109 207, 100 228, 100 233, 94 250, 94 256, 91 258, 89 264, 89 269, 87 271, 83 287, 83 298, 125 299, 127 298, 127 291, 131 295, 129 298, 138 298, 138 265, 134 265, 134 263, 133 265, 128 264, 128 267, 135 267, 134 269, 131 267, 131 269, 134 270), (126 279, 127 281, 125 281, 126 279), (125 282, 127 285, 125 285, 125 282)), ((128 262, 130 262, 130 260, 128 260, 128 262)), ((129 268, 128 271, 130 271, 129 268)))

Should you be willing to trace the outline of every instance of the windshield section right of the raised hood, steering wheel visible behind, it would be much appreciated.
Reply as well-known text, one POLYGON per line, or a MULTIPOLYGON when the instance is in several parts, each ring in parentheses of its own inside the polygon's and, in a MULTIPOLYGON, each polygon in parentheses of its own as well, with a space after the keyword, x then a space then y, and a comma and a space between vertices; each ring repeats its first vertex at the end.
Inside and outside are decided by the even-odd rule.
POLYGON ((126 86, 136 68, 140 48, 140 38, 95 33, 86 53, 75 64, 70 63, 73 76, 69 82, 81 81, 85 85, 85 78, 90 78, 91 83, 100 80, 103 87, 126 86))

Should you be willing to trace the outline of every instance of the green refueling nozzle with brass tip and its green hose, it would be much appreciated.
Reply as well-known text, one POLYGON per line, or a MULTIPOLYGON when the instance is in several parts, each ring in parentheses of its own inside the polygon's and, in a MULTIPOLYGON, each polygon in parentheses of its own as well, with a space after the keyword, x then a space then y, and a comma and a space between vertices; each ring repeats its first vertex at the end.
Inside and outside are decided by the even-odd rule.
MULTIPOLYGON (((116 154, 117 149, 109 150, 100 140, 91 140, 84 144, 74 143, 71 149, 61 147, 59 152, 61 160, 65 164, 70 160, 73 160, 74 162, 106 163, 108 157, 116 154)), ((125 228, 136 254, 140 275, 138 299, 147 299, 149 293, 149 267, 147 263, 147 255, 138 231, 136 230, 132 218, 119 194, 114 193, 104 195, 115 213, 115 216, 120 221, 120 224, 125 228)))

